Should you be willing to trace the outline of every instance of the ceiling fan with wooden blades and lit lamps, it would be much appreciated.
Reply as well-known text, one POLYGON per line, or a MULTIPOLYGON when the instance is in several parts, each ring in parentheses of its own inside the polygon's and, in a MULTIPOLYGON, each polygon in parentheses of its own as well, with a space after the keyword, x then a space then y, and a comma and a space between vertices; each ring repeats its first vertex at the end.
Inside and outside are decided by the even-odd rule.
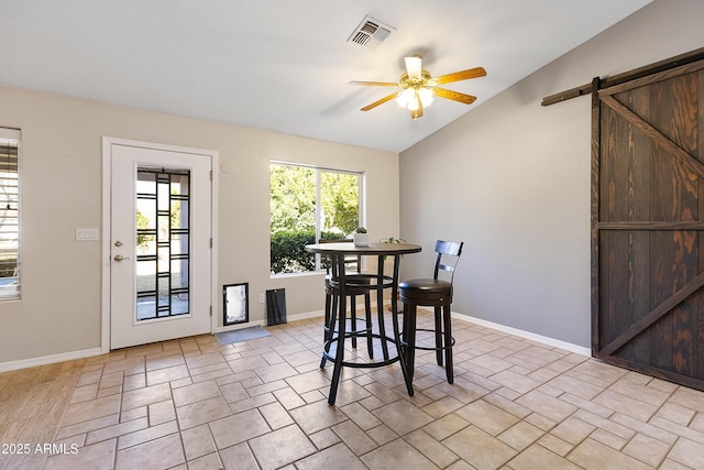
POLYGON ((451 99, 453 101, 472 105, 476 97, 471 95, 452 91, 440 88, 438 85, 451 84, 453 81, 468 80, 486 76, 486 70, 482 67, 470 68, 468 70, 455 72, 453 74, 441 75, 433 78, 428 70, 421 67, 421 57, 413 55, 405 57, 406 72, 400 76, 398 83, 391 81, 350 81, 350 85, 365 85, 378 87, 398 87, 399 90, 393 92, 378 101, 365 106, 362 111, 369 111, 380 105, 396 98, 396 101, 410 111, 411 119, 418 119, 422 116, 422 109, 432 102, 435 96, 451 99))

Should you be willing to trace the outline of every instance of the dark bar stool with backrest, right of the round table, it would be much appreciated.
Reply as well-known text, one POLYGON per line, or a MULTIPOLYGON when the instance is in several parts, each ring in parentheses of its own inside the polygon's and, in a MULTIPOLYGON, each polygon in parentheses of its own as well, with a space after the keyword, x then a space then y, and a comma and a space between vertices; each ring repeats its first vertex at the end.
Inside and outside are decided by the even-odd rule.
POLYGON ((438 365, 442 365, 444 352, 444 369, 449 383, 454 382, 452 367, 452 326, 450 324, 450 305, 452 304, 452 282, 454 269, 462 254, 463 242, 438 240, 436 243, 435 273, 432 278, 415 278, 398 284, 400 300, 404 303, 404 331, 402 345, 404 359, 411 380, 416 361, 416 349, 436 351, 438 365), (449 281, 438 278, 440 272, 449 273, 449 281), (417 307, 435 308, 435 329, 416 328, 417 307), (421 347, 416 345, 416 331, 433 332, 435 347, 421 347))

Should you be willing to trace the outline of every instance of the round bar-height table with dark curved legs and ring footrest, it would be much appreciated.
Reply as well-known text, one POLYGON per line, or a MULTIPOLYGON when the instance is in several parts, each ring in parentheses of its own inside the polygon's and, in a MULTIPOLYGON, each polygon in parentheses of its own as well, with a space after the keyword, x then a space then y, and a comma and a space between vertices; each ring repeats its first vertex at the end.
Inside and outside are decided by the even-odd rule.
MULTIPOLYGON (((421 250, 420 245, 409 243, 370 243, 369 247, 358 247, 354 243, 317 243, 306 245, 306 251, 309 253, 320 253, 327 255, 331 263, 331 278, 336 295, 337 295, 337 314, 333 311, 332 317, 337 315, 337 336, 331 336, 329 341, 326 341, 322 348, 322 353, 329 360, 334 361, 334 369, 332 372, 332 382, 330 384, 330 393, 328 394, 328 404, 334 405, 338 384, 340 383, 340 372, 343 367, 349 368, 380 368, 384 365, 397 362, 400 364, 402 372, 404 374, 404 381, 408 395, 413 396, 414 389, 411 385, 411 376, 406 368, 406 362, 403 360, 400 332, 398 328, 397 316, 397 293, 398 293, 398 271, 400 264, 400 258, 403 254, 418 253, 421 250), (344 258, 349 255, 362 255, 362 256, 377 256, 376 273, 363 273, 363 274, 348 274, 344 272, 344 258), (384 260, 391 258, 393 260, 392 275, 384 274, 384 260), (349 280, 348 280, 349 277, 349 280), (360 277, 369 280, 369 284, 360 284, 360 277), (356 280, 358 282, 354 282, 356 280), (351 282, 351 283, 350 283, 351 282), (346 323, 346 288, 369 288, 370 291, 376 291, 376 307, 378 308, 380 318, 380 334, 361 332, 360 336, 372 335, 378 338, 382 342, 382 349, 384 351, 384 360, 374 362, 348 362, 344 360, 344 339, 345 339, 345 323, 346 323), (384 289, 389 288, 392 291, 392 325, 393 337, 385 335, 383 325, 384 319, 384 289), (387 342, 393 342, 396 346, 396 356, 389 357, 387 342), (336 345, 334 353, 330 352, 332 345, 336 345)), ((332 323, 332 321, 331 321, 332 323)), ((334 330, 334 328, 331 328, 334 330)))

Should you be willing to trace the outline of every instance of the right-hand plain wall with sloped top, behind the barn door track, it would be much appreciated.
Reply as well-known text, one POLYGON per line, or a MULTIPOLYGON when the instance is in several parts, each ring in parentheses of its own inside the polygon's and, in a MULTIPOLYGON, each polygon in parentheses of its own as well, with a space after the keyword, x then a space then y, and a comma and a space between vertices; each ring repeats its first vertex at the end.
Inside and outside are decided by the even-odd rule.
POLYGON ((406 275, 464 240, 454 310, 588 347, 591 100, 540 101, 702 47, 702 24, 704 2, 656 0, 403 152, 402 236, 426 247, 406 275))

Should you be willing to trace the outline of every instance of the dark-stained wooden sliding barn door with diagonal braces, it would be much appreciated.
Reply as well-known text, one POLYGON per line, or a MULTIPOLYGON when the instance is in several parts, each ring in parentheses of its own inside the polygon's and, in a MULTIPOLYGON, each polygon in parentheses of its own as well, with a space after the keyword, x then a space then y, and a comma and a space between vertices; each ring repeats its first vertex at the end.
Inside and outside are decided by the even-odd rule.
POLYGON ((704 390, 704 61, 593 95, 592 352, 704 390))

